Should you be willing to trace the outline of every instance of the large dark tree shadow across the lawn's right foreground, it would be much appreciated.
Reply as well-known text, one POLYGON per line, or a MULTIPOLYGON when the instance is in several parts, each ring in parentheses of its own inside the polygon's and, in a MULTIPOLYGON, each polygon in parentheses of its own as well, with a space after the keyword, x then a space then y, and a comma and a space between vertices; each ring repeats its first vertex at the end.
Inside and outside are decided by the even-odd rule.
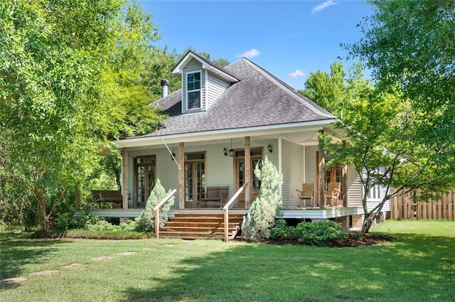
POLYGON ((316 248, 234 244, 144 276, 119 301, 455 301, 454 239, 400 235, 390 244, 316 248))

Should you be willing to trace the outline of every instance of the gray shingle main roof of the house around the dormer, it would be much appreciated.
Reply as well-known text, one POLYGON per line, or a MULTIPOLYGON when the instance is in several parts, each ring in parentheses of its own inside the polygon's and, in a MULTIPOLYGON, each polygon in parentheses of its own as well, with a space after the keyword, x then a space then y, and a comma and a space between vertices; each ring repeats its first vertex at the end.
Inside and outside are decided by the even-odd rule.
POLYGON ((333 119, 333 115, 266 70, 242 58, 225 70, 236 82, 206 112, 181 114, 181 90, 152 105, 168 112, 165 126, 144 136, 189 134, 333 119))

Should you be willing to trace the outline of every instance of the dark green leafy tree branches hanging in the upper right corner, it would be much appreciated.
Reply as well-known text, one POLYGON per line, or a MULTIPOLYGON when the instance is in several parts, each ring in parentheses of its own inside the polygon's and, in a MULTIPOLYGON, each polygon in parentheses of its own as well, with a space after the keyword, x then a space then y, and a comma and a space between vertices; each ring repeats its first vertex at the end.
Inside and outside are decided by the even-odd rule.
POLYGON ((414 141, 443 146, 439 161, 454 163, 455 173, 455 2, 369 2, 374 12, 360 23, 363 38, 344 46, 381 88, 399 85, 416 117, 414 141))

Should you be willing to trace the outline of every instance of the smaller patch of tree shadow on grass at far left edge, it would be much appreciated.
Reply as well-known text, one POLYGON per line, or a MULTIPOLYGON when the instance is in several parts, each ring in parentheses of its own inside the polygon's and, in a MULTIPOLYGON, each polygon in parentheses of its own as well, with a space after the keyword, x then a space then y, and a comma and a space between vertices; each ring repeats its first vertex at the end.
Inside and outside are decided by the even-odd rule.
POLYGON ((23 266, 31 263, 45 262, 55 244, 60 239, 32 239, 31 234, 0 233, 0 279, 21 276, 23 266))

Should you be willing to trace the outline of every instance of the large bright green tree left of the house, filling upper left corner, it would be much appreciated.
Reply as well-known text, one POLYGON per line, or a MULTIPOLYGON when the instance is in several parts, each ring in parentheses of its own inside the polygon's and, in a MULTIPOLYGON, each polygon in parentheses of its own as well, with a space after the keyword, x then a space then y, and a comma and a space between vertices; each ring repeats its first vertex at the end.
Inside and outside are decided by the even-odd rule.
POLYGON ((98 165, 100 144, 159 125, 145 105, 161 80, 151 77, 167 71, 145 71, 168 57, 150 45, 159 36, 149 16, 122 4, 0 4, 0 203, 17 212, 21 193, 43 231, 98 165))

